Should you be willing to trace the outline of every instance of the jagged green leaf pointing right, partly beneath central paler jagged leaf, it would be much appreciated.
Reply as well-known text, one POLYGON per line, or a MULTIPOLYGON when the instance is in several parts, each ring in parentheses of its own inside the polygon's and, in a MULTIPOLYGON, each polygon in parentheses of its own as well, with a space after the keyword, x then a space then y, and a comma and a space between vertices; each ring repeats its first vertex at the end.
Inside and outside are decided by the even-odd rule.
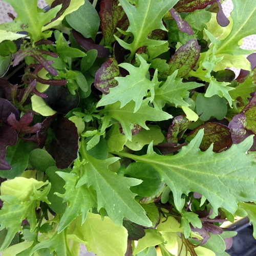
POLYGON ((148 130, 145 121, 162 121, 173 117, 166 112, 149 106, 148 100, 144 100, 140 109, 135 113, 133 112, 134 105, 135 103, 132 101, 123 108, 120 108, 119 102, 105 106, 104 110, 101 111, 104 115, 103 125, 108 126, 111 118, 116 119, 120 122, 125 136, 129 140, 132 140, 131 124, 139 124, 141 127, 148 130))

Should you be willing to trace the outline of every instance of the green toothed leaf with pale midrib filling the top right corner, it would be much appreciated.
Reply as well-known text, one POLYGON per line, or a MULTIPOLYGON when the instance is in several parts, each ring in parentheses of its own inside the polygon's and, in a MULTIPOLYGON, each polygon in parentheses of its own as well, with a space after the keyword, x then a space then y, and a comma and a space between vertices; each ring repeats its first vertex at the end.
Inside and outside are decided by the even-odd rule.
POLYGON ((246 36, 256 34, 256 5, 250 0, 232 0, 232 2, 234 5, 231 12, 232 30, 220 42, 217 54, 248 54, 248 50, 240 48, 239 41, 246 36))

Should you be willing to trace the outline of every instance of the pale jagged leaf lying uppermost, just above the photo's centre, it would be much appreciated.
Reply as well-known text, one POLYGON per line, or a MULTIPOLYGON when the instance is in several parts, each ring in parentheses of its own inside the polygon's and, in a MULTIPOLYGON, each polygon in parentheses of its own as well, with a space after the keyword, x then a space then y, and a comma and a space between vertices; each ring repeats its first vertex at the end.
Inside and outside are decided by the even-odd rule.
POLYGON ((119 66, 129 71, 125 77, 116 77, 118 86, 110 89, 110 93, 101 98, 97 103, 98 106, 109 105, 120 101, 122 108, 130 101, 135 102, 134 112, 138 111, 142 104, 143 98, 147 95, 148 90, 151 92, 151 100, 154 99, 155 83, 146 78, 150 64, 148 64, 140 55, 137 55, 141 64, 139 68, 129 63, 122 63, 119 66))

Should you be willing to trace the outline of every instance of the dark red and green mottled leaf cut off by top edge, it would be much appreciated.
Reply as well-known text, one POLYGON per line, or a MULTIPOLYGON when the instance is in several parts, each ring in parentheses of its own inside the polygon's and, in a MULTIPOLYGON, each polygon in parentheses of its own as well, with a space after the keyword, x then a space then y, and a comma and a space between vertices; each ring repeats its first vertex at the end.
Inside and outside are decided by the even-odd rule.
POLYGON ((180 0, 174 6, 174 9, 177 12, 193 12, 195 10, 204 9, 215 2, 217 2, 217 0, 180 0))

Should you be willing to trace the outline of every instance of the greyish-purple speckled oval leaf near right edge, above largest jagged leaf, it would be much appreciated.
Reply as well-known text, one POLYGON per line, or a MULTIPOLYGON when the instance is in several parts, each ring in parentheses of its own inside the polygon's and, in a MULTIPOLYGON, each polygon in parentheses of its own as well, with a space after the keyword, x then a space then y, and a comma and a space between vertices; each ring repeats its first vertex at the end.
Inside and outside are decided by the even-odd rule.
POLYGON ((240 113, 232 118, 229 122, 228 127, 231 130, 231 137, 233 143, 238 144, 242 142, 246 135, 246 116, 240 113))

